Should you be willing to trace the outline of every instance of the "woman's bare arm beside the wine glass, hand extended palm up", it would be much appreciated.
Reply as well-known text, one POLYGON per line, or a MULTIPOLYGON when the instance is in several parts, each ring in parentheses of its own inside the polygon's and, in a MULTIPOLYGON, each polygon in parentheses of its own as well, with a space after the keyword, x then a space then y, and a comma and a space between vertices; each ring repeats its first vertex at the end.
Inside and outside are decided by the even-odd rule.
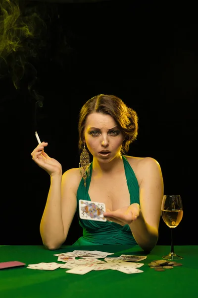
POLYGON ((151 251, 158 240, 158 227, 163 198, 163 178, 159 163, 146 157, 139 163, 141 173, 140 205, 131 204, 112 212, 104 212, 108 221, 129 224, 132 234, 145 251, 151 251))

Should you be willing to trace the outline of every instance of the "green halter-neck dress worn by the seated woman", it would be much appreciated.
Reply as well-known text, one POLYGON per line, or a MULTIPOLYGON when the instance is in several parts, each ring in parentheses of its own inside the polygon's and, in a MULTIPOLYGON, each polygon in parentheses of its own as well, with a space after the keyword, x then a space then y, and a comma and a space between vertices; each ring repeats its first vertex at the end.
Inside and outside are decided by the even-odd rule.
MULTIPOLYGON (((140 204, 138 180, 126 157, 122 155, 122 159, 124 163, 127 186, 130 193, 130 204, 140 204)), ((82 179, 77 191, 77 215, 79 219, 79 224, 83 228, 83 236, 80 237, 73 245, 137 245, 137 242, 134 239, 128 224, 122 226, 114 222, 98 222, 80 219, 79 200, 81 199, 91 201, 90 196, 88 194, 91 178, 92 163, 90 164, 90 176, 87 177, 86 187, 84 186, 84 180, 82 179)))

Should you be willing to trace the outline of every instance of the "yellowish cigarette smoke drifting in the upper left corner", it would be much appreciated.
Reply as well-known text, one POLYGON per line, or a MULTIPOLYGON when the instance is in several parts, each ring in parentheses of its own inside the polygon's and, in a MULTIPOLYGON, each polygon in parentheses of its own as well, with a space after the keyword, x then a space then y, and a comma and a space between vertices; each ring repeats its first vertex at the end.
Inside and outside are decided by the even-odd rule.
POLYGON ((61 65, 70 52, 56 4, 0 0, 0 78, 11 78, 15 89, 28 91, 26 98, 35 102, 35 123, 44 104, 37 66, 53 60, 61 65))

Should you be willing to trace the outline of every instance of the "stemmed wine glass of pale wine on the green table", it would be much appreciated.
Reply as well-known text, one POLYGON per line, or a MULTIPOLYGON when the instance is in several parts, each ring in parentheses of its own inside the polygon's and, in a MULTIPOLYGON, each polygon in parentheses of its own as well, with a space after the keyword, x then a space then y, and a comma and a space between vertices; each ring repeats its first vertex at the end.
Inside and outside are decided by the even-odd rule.
POLYGON ((171 231, 171 251, 162 258, 166 260, 183 259, 183 257, 175 254, 173 245, 173 228, 178 226, 183 218, 183 205, 180 195, 163 196, 161 204, 161 216, 164 223, 170 227, 171 231))

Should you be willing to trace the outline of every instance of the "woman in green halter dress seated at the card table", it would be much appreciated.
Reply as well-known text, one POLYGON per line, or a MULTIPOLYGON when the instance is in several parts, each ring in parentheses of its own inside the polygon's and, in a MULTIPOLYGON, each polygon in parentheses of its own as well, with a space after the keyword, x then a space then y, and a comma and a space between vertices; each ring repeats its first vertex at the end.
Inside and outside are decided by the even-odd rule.
POLYGON ((137 138, 136 112, 117 96, 99 94, 82 107, 78 129, 84 156, 80 171, 72 168, 62 175, 61 164, 44 151, 48 143, 31 153, 51 179, 40 225, 44 245, 61 246, 83 199, 104 203, 107 221, 79 218, 83 236, 73 245, 138 244, 151 251, 158 239, 163 178, 155 159, 123 155, 137 138))

